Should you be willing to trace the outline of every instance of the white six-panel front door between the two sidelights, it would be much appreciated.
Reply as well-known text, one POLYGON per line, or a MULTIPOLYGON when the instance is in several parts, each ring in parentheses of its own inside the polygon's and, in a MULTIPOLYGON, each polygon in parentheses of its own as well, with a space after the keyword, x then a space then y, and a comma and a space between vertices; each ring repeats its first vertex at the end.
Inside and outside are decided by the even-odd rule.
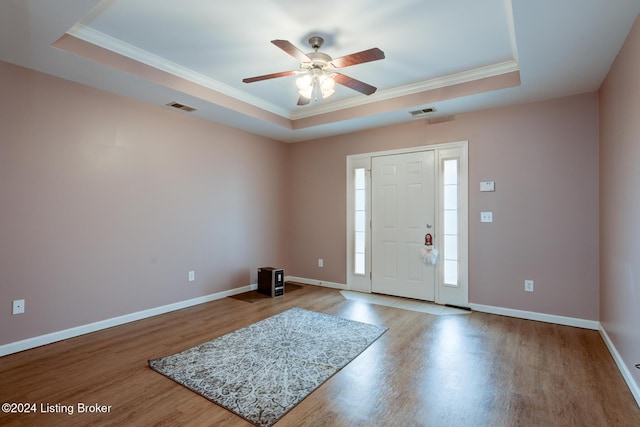
POLYGON ((372 292, 434 300, 435 268, 420 257, 435 238, 434 164, 434 151, 372 158, 372 292))

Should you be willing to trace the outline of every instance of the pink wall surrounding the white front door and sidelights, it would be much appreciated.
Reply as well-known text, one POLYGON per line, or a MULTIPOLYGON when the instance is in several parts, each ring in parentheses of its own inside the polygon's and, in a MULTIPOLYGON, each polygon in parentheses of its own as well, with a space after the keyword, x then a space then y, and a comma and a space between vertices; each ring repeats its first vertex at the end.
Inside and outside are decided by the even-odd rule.
POLYGON ((597 320, 595 94, 293 144, 293 274, 346 283, 347 155, 461 140, 469 141, 470 302, 597 320), (485 180, 495 193, 480 193, 485 180), (480 223, 485 210, 492 224, 480 223), (525 279, 534 293, 524 292, 525 279))

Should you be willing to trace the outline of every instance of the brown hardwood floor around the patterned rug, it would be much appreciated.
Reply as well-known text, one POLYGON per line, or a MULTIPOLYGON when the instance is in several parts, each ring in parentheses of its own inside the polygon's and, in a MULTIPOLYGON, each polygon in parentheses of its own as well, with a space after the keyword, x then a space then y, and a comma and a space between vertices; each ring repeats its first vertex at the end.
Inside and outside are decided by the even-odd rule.
POLYGON ((3 426, 250 426, 147 360, 290 307, 389 330, 282 426, 640 426, 640 408, 597 331, 484 313, 435 316, 304 286, 253 303, 225 298, 0 358, 3 426), (78 403, 111 406, 77 413, 78 403), (42 406, 74 414, 40 413, 42 406), (61 407, 62 407, 61 406, 61 407))

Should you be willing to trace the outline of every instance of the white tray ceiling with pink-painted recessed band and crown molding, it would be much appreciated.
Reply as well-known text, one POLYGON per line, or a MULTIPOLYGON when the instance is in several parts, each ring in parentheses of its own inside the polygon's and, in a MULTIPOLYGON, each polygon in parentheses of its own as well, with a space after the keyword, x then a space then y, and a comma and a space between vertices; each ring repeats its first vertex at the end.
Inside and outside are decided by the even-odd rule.
MULTIPOLYGON (((286 142, 596 91, 640 0, 2 0, 0 60, 286 142), (66 34, 66 35, 65 35, 66 34), (296 105, 298 69, 270 43, 334 58, 378 88, 296 105), (168 108, 168 107, 167 107, 168 108)), ((179 112, 177 114, 187 114, 179 112)))

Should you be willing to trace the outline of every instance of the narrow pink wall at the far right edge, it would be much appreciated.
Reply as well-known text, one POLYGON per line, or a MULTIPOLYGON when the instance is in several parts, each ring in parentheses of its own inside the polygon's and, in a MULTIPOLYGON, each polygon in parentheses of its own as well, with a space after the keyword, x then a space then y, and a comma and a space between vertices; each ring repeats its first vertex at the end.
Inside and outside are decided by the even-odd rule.
POLYGON ((640 387, 640 19, 600 88, 600 322, 640 387))

